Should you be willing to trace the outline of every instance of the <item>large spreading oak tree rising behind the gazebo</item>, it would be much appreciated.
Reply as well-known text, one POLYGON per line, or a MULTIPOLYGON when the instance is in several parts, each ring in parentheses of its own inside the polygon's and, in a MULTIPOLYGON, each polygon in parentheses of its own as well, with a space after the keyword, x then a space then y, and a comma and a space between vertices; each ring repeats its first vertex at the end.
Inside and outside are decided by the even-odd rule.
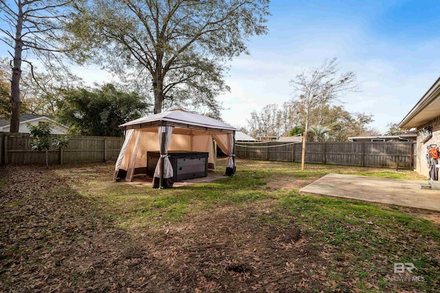
MULTIPOLYGON (((269 0, 90 0, 76 5, 70 41, 113 71, 136 73, 164 106, 204 105, 228 89, 225 61, 248 53, 250 36, 265 34, 269 0)), ((90 60, 89 59, 89 60, 90 60)))

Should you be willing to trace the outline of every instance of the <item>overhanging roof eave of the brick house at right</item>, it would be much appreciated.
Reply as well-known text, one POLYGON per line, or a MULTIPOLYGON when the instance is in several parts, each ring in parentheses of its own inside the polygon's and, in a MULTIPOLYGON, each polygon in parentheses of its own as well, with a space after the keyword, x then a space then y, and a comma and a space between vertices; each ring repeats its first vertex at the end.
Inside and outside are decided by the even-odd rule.
POLYGON ((399 123, 399 128, 420 127, 428 121, 440 116, 440 78, 421 97, 399 123))

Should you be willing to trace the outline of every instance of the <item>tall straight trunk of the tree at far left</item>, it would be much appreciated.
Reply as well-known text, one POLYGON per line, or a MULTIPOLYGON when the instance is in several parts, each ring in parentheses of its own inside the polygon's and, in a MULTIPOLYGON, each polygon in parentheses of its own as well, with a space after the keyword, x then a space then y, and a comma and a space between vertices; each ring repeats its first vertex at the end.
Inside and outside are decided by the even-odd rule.
POLYGON ((23 41, 21 31, 23 30, 23 11, 19 1, 19 13, 17 14, 17 25, 15 32, 14 67, 12 67, 11 79, 11 123, 10 132, 19 132, 20 126, 20 79, 21 79, 21 54, 23 53, 23 41))

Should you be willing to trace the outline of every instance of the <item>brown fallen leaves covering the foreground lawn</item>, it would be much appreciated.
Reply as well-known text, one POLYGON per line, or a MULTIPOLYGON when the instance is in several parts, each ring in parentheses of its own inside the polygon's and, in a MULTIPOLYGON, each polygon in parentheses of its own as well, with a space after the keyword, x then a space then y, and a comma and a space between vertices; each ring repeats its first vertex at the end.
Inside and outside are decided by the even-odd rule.
MULTIPOLYGON (((377 244, 363 236, 353 242, 356 246, 352 250, 343 242, 336 246, 322 239, 324 233, 315 231, 311 223, 300 222, 305 215, 294 218, 278 209, 274 200, 195 211, 181 222, 121 228, 117 219, 122 207, 84 195, 92 194, 87 189, 89 183, 104 191, 113 187, 103 179, 111 181, 111 167, 78 165, 46 171, 38 166, 8 166, 0 171, 1 178, 8 178, 0 187, 3 290, 383 290, 379 280, 391 268, 388 250, 376 251, 377 244), (376 253, 360 259, 365 250, 376 253), (368 266, 375 270, 365 269, 368 266), (360 285, 365 289, 359 289, 360 285)), ((344 233, 364 235, 361 226, 338 224, 343 224, 344 233)), ((438 242, 416 232, 404 236, 408 231, 397 225, 387 231, 376 220, 366 224, 373 225, 368 227, 377 235, 386 235, 377 239, 384 242, 382 248, 400 241, 400 250, 389 249, 395 257, 411 249, 407 244, 410 239, 417 239, 426 247, 423 255, 438 270, 434 261, 439 257, 438 242)), ((333 230, 327 233, 329 237, 335 237, 333 230)), ((393 285, 404 290, 402 285, 393 285)))

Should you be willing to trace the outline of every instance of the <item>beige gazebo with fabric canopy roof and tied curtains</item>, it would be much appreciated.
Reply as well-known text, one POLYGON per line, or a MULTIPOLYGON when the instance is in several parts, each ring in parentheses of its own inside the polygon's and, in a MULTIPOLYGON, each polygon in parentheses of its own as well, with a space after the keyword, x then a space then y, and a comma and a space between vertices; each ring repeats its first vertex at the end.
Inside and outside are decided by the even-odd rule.
POLYGON ((228 155, 225 173, 232 175, 235 172, 236 129, 222 121, 176 109, 136 119, 120 127, 125 130, 125 141, 116 161, 114 180, 131 181, 135 174, 146 174, 146 152, 151 151, 161 154, 155 171, 159 186, 163 186, 164 179, 173 177, 168 151, 208 152, 208 166, 215 169, 212 139, 228 155))

